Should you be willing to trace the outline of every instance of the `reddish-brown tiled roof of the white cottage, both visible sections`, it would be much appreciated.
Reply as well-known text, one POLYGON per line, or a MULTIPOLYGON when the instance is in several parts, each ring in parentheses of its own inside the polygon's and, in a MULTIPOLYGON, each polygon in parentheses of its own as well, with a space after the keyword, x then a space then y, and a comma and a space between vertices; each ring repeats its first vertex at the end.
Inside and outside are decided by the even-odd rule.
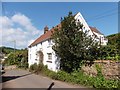
MULTIPOLYGON (((93 31, 93 32, 96 32, 96 33, 99 33, 99 34, 101 34, 96 28, 94 28, 94 27, 91 27, 91 26, 89 26, 90 27, 90 29, 93 31)), ((54 32, 54 29, 55 28, 61 28, 61 24, 58 24, 57 26, 55 26, 54 28, 52 28, 52 29, 50 29, 49 31, 47 31, 45 34, 43 34, 43 35, 41 35, 39 38, 37 38, 30 46, 34 46, 34 45, 36 45, 36 44, 38 44, 38 43, 40 43, 40 42, 42 42, 42 41, 44 41, 44 40, 47 40, 47 39, 49 39, 49 38, 51 38, 51 35, 52 35, 52 33, 54 32)), ((30 47, 29 46, 29 47, 30 47)))

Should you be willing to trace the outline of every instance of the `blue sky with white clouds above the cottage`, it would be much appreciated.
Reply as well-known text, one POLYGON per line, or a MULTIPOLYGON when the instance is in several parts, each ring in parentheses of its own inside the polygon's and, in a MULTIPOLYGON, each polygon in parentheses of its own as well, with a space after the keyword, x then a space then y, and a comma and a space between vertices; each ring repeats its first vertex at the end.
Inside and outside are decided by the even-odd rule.
POLYGON ((44 32, 60 23, 61 17, 80 12, 89 26, 105 36, 118 32, 117 2, 2 2, 0 46, 26 48, 44 32))

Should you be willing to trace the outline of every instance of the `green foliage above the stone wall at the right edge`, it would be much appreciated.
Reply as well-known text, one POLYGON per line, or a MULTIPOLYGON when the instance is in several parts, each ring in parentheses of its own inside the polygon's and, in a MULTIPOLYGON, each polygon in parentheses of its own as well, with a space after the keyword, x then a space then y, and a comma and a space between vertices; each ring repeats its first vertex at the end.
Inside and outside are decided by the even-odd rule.
POLYGON ((108 45, 101 46, 99 59, 120 60, 120 33, 107 36, 108 45))

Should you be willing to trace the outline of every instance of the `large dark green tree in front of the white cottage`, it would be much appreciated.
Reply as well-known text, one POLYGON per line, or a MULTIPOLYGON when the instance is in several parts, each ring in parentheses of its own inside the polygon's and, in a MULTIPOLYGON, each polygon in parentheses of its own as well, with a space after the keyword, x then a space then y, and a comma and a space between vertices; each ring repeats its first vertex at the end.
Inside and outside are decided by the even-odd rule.
POLYGON ((83 25, 74 19, 72 12, 61 20, 60 30, 54 29, 53 50, 61 59, 61 69, 72 72, 80 68, 82 61, 95 59, 98 43, 88 36, 88 32, 83 32, 83 25))

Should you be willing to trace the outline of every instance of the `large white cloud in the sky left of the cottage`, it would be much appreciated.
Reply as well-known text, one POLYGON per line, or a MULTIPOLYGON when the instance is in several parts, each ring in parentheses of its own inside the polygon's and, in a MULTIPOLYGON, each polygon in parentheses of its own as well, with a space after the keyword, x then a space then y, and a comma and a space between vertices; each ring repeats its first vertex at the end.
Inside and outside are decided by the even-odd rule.
POLYGON ((11 47, 15 40, 17 48, 26 48, 43 32, 33 26, 30 18, 20 13, 12 17, 0 16, 0 25, 0 44, 3 46, 11 47))

